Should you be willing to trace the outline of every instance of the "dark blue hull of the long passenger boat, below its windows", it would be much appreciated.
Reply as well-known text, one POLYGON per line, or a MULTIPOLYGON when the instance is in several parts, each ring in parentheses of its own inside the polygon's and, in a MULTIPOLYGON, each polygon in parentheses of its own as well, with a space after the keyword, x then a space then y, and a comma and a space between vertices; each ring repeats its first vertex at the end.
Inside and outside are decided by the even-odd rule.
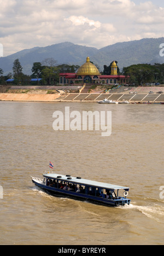
POLYGON ((116 199, 116 200, 110 200, 110 199, 103 199, 102 197, 97 196, 91 196, 81 193, 76 193, 74 191, 67 191, 62 189, 57 189, 54 187, 49 187, 47 185, 44 185, 42 183, 39 183, 37 181, 34 181, 32 179, 32 182, 39 188, 42 188, 46 193, 52 195, 52 196, 58 196, 58 197, 68 197, 70 199, 75 199, 79 201, 89 201, 91 203, 95 203, 98 205, 104 205, 104 206, 120 206, 120 205, 130 205, 131 200, 130 199, 116 199))

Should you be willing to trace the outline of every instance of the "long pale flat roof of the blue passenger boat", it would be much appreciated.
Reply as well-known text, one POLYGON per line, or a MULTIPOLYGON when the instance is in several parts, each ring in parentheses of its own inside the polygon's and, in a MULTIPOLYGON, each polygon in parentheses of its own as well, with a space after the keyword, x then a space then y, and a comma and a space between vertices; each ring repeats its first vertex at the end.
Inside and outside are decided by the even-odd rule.
POLYGON ((73 182, 73 183, 78 183, 81 185, 89 185, 93 187, 99 187, 99 188, 104 188, 104 189, 109 189, 109 190, 116 190, 116 189, 125 189, 129 190, 130 188, 128 187, 122 187, 119 185, 114 185, 114 184, 109 184, 109 183, 103 183, 103 182, 96 182, 96 181, 90 181, 89 179, 82 179, 82 178, 77 178, 77 177, 72 177, 72 179, 68 179, 66 175, 61 175, 57 173, 46 173, 43 174, 44 177, 47 178, 52 178, 52 179, 60 179, 65 182, 73 182), (58 176, 61 176, 61 178, 57 178, 58 176))

